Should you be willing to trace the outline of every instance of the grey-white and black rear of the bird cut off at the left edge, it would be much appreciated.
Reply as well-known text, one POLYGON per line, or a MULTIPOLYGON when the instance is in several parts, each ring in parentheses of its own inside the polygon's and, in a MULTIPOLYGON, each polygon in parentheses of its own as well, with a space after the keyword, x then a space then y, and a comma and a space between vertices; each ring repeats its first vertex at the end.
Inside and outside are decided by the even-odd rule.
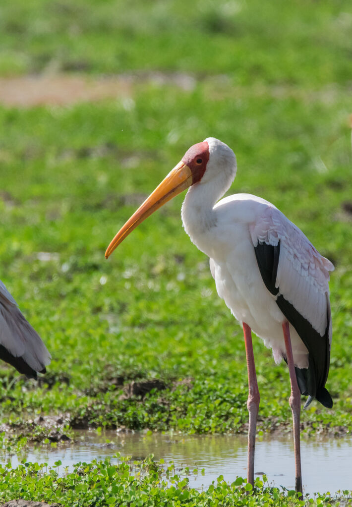
POLYGON ((37 378, 45 373, 51 356, 41 337, 20 312, 16 301, 0 280, 0 359, 20 373, 37 378))

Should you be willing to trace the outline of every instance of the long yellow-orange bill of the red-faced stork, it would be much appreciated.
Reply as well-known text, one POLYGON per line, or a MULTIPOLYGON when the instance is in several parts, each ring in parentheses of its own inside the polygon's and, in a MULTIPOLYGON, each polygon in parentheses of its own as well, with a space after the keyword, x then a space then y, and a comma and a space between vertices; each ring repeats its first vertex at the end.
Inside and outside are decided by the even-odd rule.
POLYGON ((105 251, 105 257, 108 259, 115 248, 149 215, 191 185, 192 171, 181 161, 168 173, 154 192, 147 197, 144 203, 139 206, 137 211, 133 213, 131 218, 128 219, 125 225, 119 230, 108 246, 107 251, 105 251))

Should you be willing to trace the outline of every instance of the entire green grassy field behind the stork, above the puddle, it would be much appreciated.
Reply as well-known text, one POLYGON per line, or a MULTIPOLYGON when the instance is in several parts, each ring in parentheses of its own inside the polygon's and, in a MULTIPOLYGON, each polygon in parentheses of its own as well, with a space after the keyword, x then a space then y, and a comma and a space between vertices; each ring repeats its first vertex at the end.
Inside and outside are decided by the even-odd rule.
MULTIPOLYGON (((2 3, 0 276, 53 356, 39 386, 1 365, 4 421, 244 431, 242 332, 183 231, 183 196, 104 260, 214 136, 237 156, 230 192, 273 202, 336 266, 334 408, 312 404, 302 422, 352 429, 351 33, 351 3, 336 0, 2 3), (166 389, 120 399, 150 378, 166 389)), ((260 429, 289 427, 288 371, 254 349, 260 429)))

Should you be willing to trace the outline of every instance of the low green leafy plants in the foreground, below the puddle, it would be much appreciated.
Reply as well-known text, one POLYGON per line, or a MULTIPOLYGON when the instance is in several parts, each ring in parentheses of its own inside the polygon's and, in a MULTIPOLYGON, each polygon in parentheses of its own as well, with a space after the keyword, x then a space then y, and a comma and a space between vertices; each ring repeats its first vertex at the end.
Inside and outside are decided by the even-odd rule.
POLYGON ((62 469, 61 461, 53 468, 46 463, 23 462, 17 468, 0 466, 0 500, 5 502, 16 498, 24 500, 59 502, 71 507, 138 507, 167 505, 169 507, 210 507, 233 505, 347 505, 349 492, 341 497, 327 495, 304 496, 299 499, 295 491, 272 488, 266 476, 255 480, 254 487, 245 479, 237 477, 231 484, 223 476, 213 481, 206 490, 189 486, 189 476, 198 470, 175 470, 171 463, 165 468, 162 461, 152 457, 144 461, 131 461, 120 454, 113 460, 94 460, 92 463, 79 462, 72 472, 62 469), (250 494, 249 494, 250 493, 250 494))

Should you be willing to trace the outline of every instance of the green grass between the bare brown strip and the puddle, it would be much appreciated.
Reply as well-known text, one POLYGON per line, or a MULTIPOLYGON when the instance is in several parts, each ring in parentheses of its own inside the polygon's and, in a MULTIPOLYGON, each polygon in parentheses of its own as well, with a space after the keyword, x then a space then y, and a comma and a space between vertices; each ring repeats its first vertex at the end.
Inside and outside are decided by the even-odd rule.
MULTIPOLYGON (((7 132, 2 277, 52 352, 50 374, 70 377, 69 385, 25 394, 15 384, 5 417, 54 410, 69 412, 73 424, 242 430, 248 415, 241 329, 216 294, 205 256, 182 229, 182 196, 134 231, 109 261, 103 257, 143 194, 190 143, 215 135, 237 154, 232 192, 273 201, 336 264, 328 381, 335 405, 313 405, 302 420, 307 431, 351 429, 351 223, 342 208, 352 190, 347 99, 273 101, 249 89, 240 102, 209 101, 208 94, 201 84, 193 92, 149 86, 136 92, 132 111, 123 102, 102 102, 1 112, 7 132), (170 132, 177 142, 170 143, 170 132), (52 252, 52 260, 38 259, 41 251, 52 252), (160 377, 170 389, 162 399, 151 393, 143 404, 120 401, 117 377, 160 377), (191 389, 173 390, 172 382, 190 377, 191 389)), ((274 366, 270 350, 254 342, 260 428, 287 426, 287 369, 274 366)))

